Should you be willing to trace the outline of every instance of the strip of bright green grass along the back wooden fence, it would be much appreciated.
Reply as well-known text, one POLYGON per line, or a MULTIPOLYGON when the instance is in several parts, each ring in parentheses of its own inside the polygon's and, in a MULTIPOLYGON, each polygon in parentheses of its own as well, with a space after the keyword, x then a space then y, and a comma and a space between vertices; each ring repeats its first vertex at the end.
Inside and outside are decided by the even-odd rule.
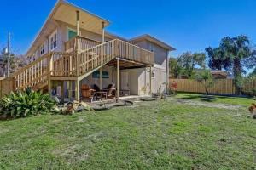
POLYGON ((189 94, 189 93, 178 93, 176 95, 178 99, 195 99, 212 103, 219 104, 231 104, 231 105, 243 105, 249 107, 252 103, 256 103, 251 98, 239 98, 239 97, 228 97, 218 95, 204 95, 204 94, 189 94))

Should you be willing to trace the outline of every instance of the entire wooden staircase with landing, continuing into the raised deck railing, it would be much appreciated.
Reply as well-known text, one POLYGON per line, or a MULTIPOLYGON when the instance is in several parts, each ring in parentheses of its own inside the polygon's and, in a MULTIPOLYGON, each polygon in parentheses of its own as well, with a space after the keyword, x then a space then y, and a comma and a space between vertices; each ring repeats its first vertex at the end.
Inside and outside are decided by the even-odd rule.
POLYGON ((48 86, 50 80, 82 80, 93 71, 108 64, 113 59, 126 59, 145 65, 153 65, 154 54, 129 42, 114 39, 94 47, 79 48, 71 53, 52 52, 26 65, 11 75, 14 90, 32 87, 40 90, 48 86))

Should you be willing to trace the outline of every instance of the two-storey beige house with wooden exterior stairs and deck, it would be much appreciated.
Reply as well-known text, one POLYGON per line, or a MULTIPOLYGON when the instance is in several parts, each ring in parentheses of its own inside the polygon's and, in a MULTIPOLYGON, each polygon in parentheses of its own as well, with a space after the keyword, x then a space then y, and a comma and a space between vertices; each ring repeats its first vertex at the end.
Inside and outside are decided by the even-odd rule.
POLYGON ((95 14, 58 1, 26 53, 30 64, 16 72, 16 89, 32 86, 80 99, 80 88, 116 84, 119 94, 142 95, 166 90, 168 54, 175 50, 149 35, 127 40, 105 31, 95 14))

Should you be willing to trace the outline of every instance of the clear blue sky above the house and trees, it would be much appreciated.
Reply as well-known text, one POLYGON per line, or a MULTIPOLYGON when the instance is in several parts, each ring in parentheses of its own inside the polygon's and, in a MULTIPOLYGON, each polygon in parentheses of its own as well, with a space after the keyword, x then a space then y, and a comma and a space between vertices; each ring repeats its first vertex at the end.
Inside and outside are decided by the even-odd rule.
MULTIPOLYGON (((255 0, 69 0, 110 20, 108 31, 125 38, 148 33, 184 51, 217 46, 222 37, 245 34, 256 42, 255 0)), ((1 2, 0 47, 12 34, 15 53, 25 54, 55 0, 1 2)))

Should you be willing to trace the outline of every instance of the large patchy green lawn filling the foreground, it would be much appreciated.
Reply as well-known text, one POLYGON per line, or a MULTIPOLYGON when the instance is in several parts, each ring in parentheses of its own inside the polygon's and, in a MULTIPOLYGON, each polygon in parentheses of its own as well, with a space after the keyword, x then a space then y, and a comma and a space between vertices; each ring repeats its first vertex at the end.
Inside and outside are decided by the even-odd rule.
POLYGON ((247 115, 168 98, 0 122, 0 169, 255 169, 247 115))

